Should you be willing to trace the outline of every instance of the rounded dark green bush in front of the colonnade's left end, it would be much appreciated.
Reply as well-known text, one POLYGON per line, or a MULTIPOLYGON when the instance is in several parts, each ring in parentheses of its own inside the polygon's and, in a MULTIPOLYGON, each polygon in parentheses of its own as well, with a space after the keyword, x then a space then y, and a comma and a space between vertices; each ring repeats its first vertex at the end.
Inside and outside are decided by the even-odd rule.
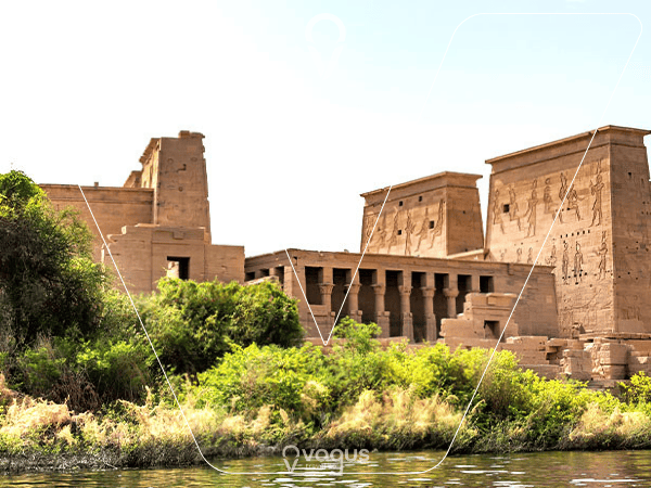
POLYGON ((164 364, 205 371, 233 345, 291 347, 304 335, 296 300, 275 283, 250 286, 165 279, 142 300, 141 317, 164 364))

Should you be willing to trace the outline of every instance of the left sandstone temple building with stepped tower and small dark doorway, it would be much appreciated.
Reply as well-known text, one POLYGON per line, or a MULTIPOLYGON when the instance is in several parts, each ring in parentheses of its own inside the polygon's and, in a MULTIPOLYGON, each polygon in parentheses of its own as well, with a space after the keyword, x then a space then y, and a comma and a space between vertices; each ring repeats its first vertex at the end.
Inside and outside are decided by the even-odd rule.
MULTIPOLYGON (((167 275, 196 281, 244 281, 244 247, 210 243, 203 136, 152 139, 124 188, 84 187, 108 249, 133 293, 151 292, 167 275)), ((95 259, 108 249, 77 185, 43 184, 55 208, 74 206, 95 235, 95 259)))

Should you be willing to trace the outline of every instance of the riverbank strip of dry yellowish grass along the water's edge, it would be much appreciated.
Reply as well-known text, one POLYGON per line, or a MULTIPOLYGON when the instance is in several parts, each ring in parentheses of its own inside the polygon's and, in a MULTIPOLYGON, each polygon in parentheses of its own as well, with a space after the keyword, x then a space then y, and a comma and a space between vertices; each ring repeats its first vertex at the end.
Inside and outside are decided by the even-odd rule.
MULTIPOLYGON (((217 372, 224 377, 224 371, 217 372)), ((547 382, 509 365, 505 357, 497 357, 487 382, 497 388, 500 398, 512 401, 502 406, 503 415, 486 414, 497 398, 490 396, 490 389, 482 390, 452 453, 651 447, 651 418, 643 401, 626 402, 580 384, 547 382), (505 383, 507 372, 511 381, 505 383), (526 398, 513 388, 515 378, 526 380, 522 383, 527 388, 526 398), (511 385, 510 391, 507 384, 511 385), (514 410, 522 408, 524 400, 535 406, 541 395, 547 401, 535 409, 514 410)), ((75 413, 66 404, 18 397, 0 383, 0 400, 5 406, 0 416, 0 470, 13 473, 202 464, 190 429, 208 459, 280 455, 288 445, 369 451, 446 449, 463 407, 454 395, 423 396, 416 384, 408 388, 394 385, 381 393, 363 390, 356 401, 322 419, 319 425, 306 422, 306 412, 297 409, 289 411, 272 404, 238 409, 238 396, 231 398, 230 408, 210 403, 212 387, 206 378, 199 385, 186 382, 177 387, 183 414, 167 398, 151 391, 140 406, 119 401, 102 412, 75 413)), ((303 400, 318 407, 315 389, 315 385, 304 387, 303 400)))

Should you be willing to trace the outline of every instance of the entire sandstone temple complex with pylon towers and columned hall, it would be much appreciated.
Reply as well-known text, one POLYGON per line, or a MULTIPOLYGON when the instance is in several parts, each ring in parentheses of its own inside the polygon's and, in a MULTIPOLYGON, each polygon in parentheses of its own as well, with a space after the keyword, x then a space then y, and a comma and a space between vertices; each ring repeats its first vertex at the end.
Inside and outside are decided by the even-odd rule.
MULTIPOLYGON (((95 257, 106 262, 107 246, 133 292, 169 274, 275 280, 298 298, 310 341, 339 314, 376 322, 385 343, 495 347, 528 277, 498 347, 548 377, 608 385, 651 373, 649 133, 607 126, 488 159, 485 234, 478 175, 363 193, 359 253, 245 258, 243 246, 213 245, 200 133, 152 139, 124 187, 84 192, 106 240, 95 231, 95 257)), ((76 185, 42 188, 95 229, 76 185)))

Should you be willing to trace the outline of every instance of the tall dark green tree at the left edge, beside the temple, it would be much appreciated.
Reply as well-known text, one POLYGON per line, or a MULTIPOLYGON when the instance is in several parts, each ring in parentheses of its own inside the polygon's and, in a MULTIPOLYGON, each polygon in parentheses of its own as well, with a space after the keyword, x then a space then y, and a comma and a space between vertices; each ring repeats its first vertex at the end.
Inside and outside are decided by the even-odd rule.
POLYGON ((0 175, 0 333, 14 347, 39 335, 97 329, 107 275, 72 209, 56 211, 22 171, 0 175))

